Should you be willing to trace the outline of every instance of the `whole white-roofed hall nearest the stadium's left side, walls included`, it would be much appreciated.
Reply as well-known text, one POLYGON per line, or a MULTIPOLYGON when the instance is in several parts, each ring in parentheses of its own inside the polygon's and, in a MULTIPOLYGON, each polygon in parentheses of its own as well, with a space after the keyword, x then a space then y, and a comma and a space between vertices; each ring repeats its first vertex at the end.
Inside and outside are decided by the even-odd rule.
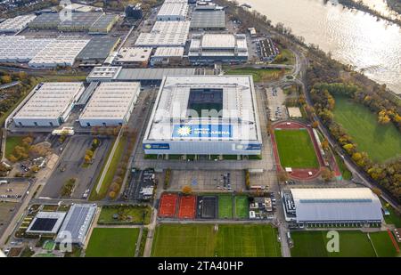
POLYGON ((102 82, 79 117, 83 127, 125 125, 141 92, 139 82, 102 82))

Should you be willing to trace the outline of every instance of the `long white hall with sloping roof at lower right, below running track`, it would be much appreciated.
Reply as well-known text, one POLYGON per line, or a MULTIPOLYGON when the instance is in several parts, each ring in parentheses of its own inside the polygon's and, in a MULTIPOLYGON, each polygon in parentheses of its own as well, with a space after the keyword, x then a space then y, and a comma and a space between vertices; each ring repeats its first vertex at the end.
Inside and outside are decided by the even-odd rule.
POLYGON ((382 219, 381 201, 368 188, 291 189, 297 222, 353 222, 382 219))

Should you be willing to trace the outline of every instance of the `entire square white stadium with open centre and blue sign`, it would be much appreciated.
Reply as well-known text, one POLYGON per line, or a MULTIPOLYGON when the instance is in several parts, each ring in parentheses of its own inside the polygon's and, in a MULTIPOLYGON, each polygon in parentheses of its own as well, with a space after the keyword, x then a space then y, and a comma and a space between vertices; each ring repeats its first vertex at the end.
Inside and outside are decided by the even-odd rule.
POLYGON ((143 138, 150 155, 259 155, 251 76, 164 77, 143 138))

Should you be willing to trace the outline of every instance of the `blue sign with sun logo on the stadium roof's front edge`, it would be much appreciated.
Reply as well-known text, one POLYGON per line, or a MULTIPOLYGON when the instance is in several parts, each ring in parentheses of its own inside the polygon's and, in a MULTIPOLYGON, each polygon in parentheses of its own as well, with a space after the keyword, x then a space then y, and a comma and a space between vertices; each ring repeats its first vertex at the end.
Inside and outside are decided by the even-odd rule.
POLYGON ((175 138, 231 138, 233 125, 174 125, 175 138))

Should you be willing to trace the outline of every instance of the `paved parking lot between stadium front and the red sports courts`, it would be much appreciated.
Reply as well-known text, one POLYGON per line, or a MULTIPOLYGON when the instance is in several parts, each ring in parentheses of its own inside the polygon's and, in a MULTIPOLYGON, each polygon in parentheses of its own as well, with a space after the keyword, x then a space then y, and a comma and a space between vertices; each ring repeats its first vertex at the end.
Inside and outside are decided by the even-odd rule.
POLYGON ((231 171, 181 171, 172 172, 169 190, 182 190, 185 185, 192 190, 245 190, 245 174, 242 170, 231 171))

